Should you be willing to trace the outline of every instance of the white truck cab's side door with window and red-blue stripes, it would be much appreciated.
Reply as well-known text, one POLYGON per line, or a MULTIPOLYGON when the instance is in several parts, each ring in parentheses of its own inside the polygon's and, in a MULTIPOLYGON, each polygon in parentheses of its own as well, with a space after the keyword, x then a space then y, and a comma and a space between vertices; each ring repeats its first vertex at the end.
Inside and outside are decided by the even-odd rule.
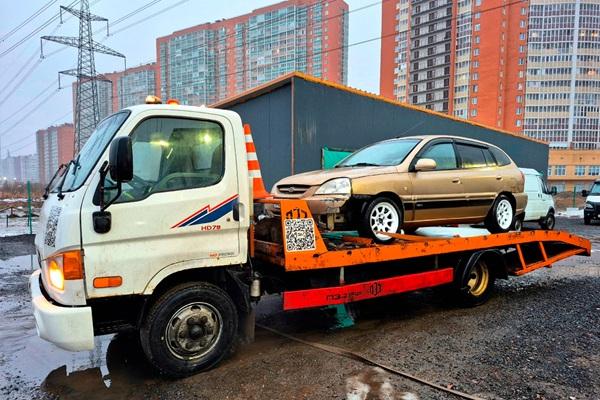
MULTIPOLYGON (((107 210, 110 231, 100 234, 93 228, 98 178, 82 207, 88 297, 112 290, 94 288, 95 277, 120 276, 122 286, 113 288, 115 293, 133 294, 164 269, 239 262, 244 236, 234 215, 239 179, 231 122, 183 111, 137 118, 129 134, 133 179, 107 210)), ((113 185, 107 177, 105 199, 115 195, 113 185)))

